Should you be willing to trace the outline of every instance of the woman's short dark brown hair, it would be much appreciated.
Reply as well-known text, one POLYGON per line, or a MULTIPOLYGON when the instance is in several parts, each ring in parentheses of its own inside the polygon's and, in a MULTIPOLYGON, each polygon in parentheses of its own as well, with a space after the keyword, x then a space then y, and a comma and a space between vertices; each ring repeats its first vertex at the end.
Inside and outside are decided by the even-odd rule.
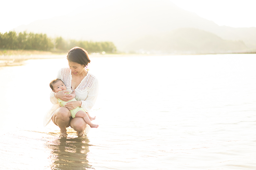
POLYGON ((88 52, 80 47, 74 47, 69 50, 67 59, 69 62, 75 62, 84 66, 87 66, 91 62, 88 56, 88 52))

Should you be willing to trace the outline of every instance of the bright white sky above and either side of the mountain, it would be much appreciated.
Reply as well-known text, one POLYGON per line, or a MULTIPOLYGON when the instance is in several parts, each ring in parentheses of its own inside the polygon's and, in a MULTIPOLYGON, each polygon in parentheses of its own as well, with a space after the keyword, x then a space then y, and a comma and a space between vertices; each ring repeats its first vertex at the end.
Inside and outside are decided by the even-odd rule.
MULTIPOLYGON (((120 1, 120 0, 119 0, 120 1)), ((216 24, 231 27, 256 27, 256 0, 169 0, 178 7, 194 12, 216 24)), ((9 32, 19 25, 54 16, 77 13, 79 3, 93 4, 93 0, 3 0, 0 2, 0 32, 9 32), (78 4, 78 5, 77 5, 78 4)), ((102 0, 102 7, 106 5, 102 0)), ((78 9, 84 8, 79 6, 78 9)))

